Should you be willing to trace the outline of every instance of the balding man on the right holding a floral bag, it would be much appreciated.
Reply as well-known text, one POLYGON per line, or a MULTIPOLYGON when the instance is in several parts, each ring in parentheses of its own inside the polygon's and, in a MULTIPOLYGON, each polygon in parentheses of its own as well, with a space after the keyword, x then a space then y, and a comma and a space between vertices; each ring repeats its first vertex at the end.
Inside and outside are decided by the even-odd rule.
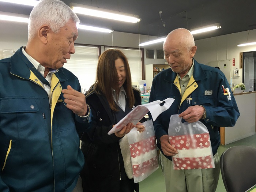
POLYGON ((153 79, 149 101, 174 98, 172 106, 154 121, 157 146, 165 176, 166 192, 214 192, 219 179, 218 127, 232 127, 240 116, 234 96, 223 94, 229 87, 225 75, 216 68, 197 63, 197 47, 187 29, 171 31, 163 44, 170 69, 153 79), (208 94, 208 92, 210 93, 208 94), (183 121, 201 121, 208 129, 215 168, 174 170, 172 156, 178 150, 169 143, 170 116, 179 114, 183 121))

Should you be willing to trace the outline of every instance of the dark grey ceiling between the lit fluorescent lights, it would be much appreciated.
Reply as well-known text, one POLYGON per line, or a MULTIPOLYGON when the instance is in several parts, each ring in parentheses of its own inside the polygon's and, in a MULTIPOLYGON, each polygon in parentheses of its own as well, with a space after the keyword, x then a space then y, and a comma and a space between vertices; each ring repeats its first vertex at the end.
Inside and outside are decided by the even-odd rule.
MULTIPOLYGON (((63 0, 139 15, 140 23, 78 15, 81 23, 114 31, 162 37, 173 29, 220 23, 221 29, 194 35, 195 40, 256 29, 256 0, 63 0), (162 11, 161 17, 159 11, 162 11), (165 27, 163 26, 165 24, 165 27)), ((32 7, 0 2, 0 11, 29 15, 32 7)))

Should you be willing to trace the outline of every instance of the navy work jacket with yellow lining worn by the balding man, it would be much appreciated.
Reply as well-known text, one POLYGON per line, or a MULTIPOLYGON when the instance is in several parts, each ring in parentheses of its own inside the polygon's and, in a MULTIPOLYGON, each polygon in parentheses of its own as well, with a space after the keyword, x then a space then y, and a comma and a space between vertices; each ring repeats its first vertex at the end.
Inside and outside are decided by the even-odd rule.
POLYGON ((163 135, 168 135, 170 116, 184 112, 189 106, 202 105, 206 109, 206 118, 200 121, 209 131, 213 155, 217 153, 220 144, 218 127, 233 127, 240 116, 233 94, 231 93, 229 100, 223 93, 222 85, 230 90, 225 75, 219 69, 197 63, 196 60, 193 75, 182 97, 177 73, 171 68, 155 76, 149 102, 162 101, 169 97, 175 99, 172 106, 154 121, 157 146, 161 151, 159 139, 163 135), (212 95, 206 95, 205 91, 212 91, 212 95), (190 102, 187 100, 189 97, 192 99, 190 102))

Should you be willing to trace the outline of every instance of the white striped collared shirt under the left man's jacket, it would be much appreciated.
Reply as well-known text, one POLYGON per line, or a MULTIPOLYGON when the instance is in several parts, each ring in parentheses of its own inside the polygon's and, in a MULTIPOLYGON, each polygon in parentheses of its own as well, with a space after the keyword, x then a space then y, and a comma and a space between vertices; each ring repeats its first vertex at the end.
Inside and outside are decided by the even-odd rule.
MULTIPOLYGON (((34 65, 34 67, 37 69, 37 71, 44 76, 44 72, 45 72, 45 67, 42 66, 38 61, 36 61, 35 59, 33 59, 29 54, 27 54, 27 52, 25 51, 25 46, 23 46, 22 48, 22 53, 25 55, 25 57, 27 57, 27 59, 34 65)), ((51 71, 48 72, 48 74, 46 75, 45 79, 49 82, 49 84, 51 85, 52 82, 52 75, 56 72, 58 72, 59 69, 52 69, 51 71)), ((41 80, 38 79, 40 82, 41 80)), ((41 82, 41 84, 43 85, 45 91, 48 93, 48 96, 50 98, 50 101, 52 102, 52 97, 51 97, 51 87, 44 84, 43 82, 41 82)))

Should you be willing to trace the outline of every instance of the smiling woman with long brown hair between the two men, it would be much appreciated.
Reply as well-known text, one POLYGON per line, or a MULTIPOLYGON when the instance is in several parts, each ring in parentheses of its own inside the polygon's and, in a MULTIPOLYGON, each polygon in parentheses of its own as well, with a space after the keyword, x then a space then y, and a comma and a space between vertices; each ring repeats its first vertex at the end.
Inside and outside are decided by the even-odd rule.
POLYGON ((133 127, 144 131, 144 126, 129 123, 108 135, 118 121, 141 104, 139 91, 132 88, 130 68, 123 52, 109 49, 101 54, 97 78, 86 93, 86 102, 93 119, 81 137, 85 158, 81 173, 84 191, 139 192, 139 184, 133 180, 126 134, 133 127))

